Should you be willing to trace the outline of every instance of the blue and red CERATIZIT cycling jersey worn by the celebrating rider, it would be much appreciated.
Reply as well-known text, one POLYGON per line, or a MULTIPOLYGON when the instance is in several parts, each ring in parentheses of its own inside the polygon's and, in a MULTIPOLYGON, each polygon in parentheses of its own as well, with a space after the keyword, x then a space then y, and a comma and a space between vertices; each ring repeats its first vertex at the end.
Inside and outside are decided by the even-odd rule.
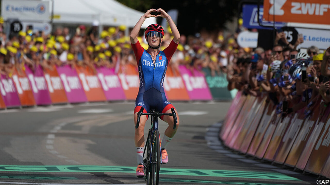
POLYGON ((162 113, 173 107, 165 96, 164 79, 168 64, 177 47, 178 44, 172 40, 164 51, 159 51, 156 61, 153 63, 150 53, 143 49, 139 41, 132 44, 140 79, 134 113, 138 112, 141 107, 145 108, 145 112, 155 109, 162 113))

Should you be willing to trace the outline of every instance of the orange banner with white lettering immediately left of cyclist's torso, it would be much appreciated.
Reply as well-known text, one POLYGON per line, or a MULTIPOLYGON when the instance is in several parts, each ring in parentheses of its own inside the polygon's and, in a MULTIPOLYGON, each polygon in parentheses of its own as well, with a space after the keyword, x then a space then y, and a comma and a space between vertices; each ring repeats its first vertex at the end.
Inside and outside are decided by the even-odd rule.
MULTIPOLYGON (((139 69, 141 71, 141 69, 139 69)), ((132 64, 121 65, 118 71, 121 87, 127 100, 135 100, 139 93, 140 78, 138 69, 132 64)))

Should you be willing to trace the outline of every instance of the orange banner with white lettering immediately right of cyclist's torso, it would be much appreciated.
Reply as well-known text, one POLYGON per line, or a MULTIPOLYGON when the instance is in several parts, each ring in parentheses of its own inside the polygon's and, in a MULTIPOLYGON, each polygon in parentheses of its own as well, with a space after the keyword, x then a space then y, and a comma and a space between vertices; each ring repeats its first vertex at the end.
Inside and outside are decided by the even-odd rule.
POLYGON ((164 90, 167 99, 170 100, 190 100, 187 90, 184 86, 180 72, 176 71, 177 75, 174 75, 172 67, 168 67, 166 70, 164 80, 164 90))

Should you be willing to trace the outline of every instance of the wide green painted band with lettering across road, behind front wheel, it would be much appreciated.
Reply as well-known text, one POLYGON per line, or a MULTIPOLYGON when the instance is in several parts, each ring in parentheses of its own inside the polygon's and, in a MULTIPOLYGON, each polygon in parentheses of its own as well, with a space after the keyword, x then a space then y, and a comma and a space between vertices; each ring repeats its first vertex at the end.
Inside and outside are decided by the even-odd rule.
MULTIPOLYGON (((120 166, 12 166, 0 165, 0 171, 6 172, 124 172, 135 173, 136 167, 120 166)), ((197 170, 161 168, 161 175, 187 175, 209 177, 258 178, 276 180, 300 180, 278 172, 247 172, 229 170, 197 170)))

